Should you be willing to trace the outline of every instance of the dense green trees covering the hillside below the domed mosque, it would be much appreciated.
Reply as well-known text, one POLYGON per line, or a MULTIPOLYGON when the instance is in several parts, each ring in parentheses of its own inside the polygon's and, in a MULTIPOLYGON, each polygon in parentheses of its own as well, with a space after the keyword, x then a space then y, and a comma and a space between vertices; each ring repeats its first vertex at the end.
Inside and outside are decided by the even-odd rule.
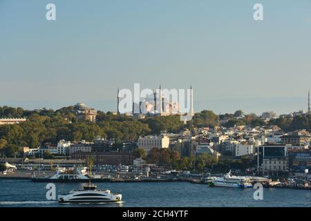
POLYGON ((126 115, 113 115, 111 112, 97 112, 95 123, 78 120, 74 107, 68 106, 57 111, 36 109, 33 111, 10 106, 0 107, 0 118, 26 117, 26 122, 0 126, 0 154, 12 157, 21 151, 22 146, 37 148, 40 144, 56 144, 59 140, 79 142, 93 141, 96 137, 113 139, 116 143, 135 141, 140 136, 178 133, 194 126, 216 126, 218 116, 212 111, 202 111, 194 116, 194 122, 184 124, 179 115, 154 116, 135 119, 126 115))

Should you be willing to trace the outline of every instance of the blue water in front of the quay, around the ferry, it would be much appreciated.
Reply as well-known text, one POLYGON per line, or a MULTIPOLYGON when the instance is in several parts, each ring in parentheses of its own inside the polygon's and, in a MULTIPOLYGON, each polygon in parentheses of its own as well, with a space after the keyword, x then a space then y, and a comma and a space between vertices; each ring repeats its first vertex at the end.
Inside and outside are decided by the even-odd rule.
MULTIPOLYGON (((58 191, 84 184, 56 184, 58 191)), ((46 200, 46 183, 0 180, 0 206, 311 206, 311 191, 264 189, 263 200, 254 200, 254 189, 209 187, 188 182, 97 183, 112 193, 122 190, 122 203, 59 204, 46 200)))

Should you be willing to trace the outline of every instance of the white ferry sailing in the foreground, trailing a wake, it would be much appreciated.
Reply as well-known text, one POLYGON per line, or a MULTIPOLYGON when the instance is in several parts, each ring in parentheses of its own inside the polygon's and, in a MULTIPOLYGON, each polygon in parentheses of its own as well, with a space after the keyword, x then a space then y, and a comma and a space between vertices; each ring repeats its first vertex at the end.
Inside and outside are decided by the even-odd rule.
POLYGON ((120 202, 121 194, 111 193, 110 190, 100 190, 89 182, 83 189, 73 190, 58 196, 59 202, 94 203, 94 202, 120 202))

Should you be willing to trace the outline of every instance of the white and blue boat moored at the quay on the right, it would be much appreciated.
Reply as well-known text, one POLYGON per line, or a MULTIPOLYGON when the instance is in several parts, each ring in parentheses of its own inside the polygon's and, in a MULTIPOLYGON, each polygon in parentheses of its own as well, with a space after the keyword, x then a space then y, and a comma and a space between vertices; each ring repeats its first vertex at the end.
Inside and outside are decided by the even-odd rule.
POLYGON ((236 188, 251 188, 252 184, 249 182, 248 177, 241 177, 227 173, 223 177, 216 178, 211 181, 210 186, 222 187, 236 187, 236 188))

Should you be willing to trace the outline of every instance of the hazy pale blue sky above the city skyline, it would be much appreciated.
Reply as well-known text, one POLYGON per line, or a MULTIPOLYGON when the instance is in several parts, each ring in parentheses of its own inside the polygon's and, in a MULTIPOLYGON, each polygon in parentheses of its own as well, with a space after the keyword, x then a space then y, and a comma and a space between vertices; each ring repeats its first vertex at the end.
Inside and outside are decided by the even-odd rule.
POLYGON ((0 0, 0 77, 0 106, 115 111, 116 88, 140 83, 192 84, 195 111, 299 111, 311 89, 311 0, 0 0))

